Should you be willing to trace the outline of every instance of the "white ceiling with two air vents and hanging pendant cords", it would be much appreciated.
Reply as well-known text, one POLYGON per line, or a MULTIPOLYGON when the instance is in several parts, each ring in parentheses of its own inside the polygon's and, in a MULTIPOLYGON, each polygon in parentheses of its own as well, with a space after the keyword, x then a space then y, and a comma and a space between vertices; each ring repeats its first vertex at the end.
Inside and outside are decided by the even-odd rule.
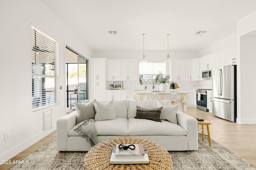
POLYGON ((142 33, 145 50, 167 50, 167 33, 169 50, 200 50, 236 33, 236 21, 256 11, 256 0, 42 1, 92 50, 142 50, 142 33))

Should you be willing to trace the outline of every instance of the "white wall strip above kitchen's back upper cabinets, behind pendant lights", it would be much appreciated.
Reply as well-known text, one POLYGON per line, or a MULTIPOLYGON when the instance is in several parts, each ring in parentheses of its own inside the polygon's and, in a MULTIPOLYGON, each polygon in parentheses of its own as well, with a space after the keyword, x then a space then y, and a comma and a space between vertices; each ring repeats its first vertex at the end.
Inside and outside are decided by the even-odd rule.
MULTIPOLYGON (((140 61, 143 51, 93 51, 93 58, 107 59, 137 59, 140 61)), ((196 59, 198 51, 169 51, 172 59, 196 59)), ((163 62, 166 60, 167 51, 145 51, 148 62, 163 62)))

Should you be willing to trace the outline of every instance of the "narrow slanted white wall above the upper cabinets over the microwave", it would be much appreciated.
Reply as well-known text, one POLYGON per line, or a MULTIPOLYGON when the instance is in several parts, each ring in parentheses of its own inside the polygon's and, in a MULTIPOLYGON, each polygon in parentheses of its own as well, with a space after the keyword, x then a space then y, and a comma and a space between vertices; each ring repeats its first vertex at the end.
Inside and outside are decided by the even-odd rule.
POLYGON ((215 53, 217 51, 223 51, 225 49, 229 49, 235 46, 236 46, 236 34, 233 34, 233 35, 230 35, 229 37, 222 39, 221 41, 218 41, 208 47, 205 47, 204 49, 201 49, 199 51, 199 55, 200 57, 203 57, 208 54, 215 53))

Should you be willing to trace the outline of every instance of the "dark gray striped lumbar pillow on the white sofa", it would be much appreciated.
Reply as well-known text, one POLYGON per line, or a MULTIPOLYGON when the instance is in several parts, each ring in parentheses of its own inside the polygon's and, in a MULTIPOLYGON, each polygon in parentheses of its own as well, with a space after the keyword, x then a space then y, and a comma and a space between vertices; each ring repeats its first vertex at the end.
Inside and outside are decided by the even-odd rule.
POLYGON ((136 119, 148 119, 153 121, 161 121, 161 111, 163 107, 147 109, 136 105, 136 119))

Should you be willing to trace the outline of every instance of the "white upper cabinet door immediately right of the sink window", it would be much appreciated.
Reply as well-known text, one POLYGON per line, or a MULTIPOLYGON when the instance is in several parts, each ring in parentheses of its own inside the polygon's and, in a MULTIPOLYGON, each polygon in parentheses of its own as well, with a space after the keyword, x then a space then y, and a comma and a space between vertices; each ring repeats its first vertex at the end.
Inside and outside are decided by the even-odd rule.
POLYGON ((172 81, 186 80, 186 62, 172 61, 172 81))

